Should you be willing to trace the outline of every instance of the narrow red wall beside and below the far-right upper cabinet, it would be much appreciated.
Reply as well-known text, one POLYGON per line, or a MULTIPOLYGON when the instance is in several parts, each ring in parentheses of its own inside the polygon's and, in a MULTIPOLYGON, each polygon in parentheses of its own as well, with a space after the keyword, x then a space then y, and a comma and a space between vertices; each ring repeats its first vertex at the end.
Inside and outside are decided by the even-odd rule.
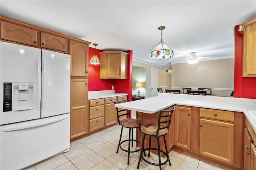
POLYGON ((242 77, 243 35, 238 33, 238 28, 239 25, 236 25, 234 97, 256 99, 256 77, 242 77))

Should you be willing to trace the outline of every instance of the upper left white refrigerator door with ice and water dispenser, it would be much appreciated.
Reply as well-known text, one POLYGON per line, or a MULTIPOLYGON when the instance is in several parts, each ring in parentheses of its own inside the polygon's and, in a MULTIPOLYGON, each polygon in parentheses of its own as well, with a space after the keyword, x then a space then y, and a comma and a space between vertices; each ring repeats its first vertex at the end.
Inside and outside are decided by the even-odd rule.
POLYGON ((2 41, 0 48, 1 125, 40 118, 41 49, 2 41))

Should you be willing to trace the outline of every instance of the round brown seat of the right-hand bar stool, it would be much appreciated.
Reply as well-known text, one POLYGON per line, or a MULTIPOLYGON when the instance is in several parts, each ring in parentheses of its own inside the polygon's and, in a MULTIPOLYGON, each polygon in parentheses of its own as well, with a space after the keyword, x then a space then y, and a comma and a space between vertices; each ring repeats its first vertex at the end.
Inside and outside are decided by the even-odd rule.
MULTIPOLYGON (((160 125, 160 128, 162 128, 162 127, 164 127, 164 126, 160 125)), ((157 129, 158 129, 158 125, 156 125, 156 124, 146 124, 146 125, 143 125, 141 127, 141 131, 143 133, 146 133, 147 135, 152 135, 152 136, 156 136, 157 129)), ((167 133, 168 133, 168 129, 167 128, 160 129, 159 133, 158 133, 158 136, 164 136, 167 133)))

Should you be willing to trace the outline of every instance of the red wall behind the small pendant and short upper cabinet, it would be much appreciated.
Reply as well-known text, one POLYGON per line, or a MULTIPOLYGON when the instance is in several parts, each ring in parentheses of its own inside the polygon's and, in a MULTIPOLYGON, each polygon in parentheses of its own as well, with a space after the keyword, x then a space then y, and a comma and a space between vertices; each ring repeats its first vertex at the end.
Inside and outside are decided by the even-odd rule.
MULTIPOLYGON (((100 51, 96 49, 96 55, 100 60, 100 51)), ((125 51, 128 54, 128 75, 127 79, 100 79, 100 64, 90 64, 94 55, 94 48, 89 47, 88 53, 88 91, 111 90, 114 86, 116 93, 127 93, 128 99, 132 101, 132 50, 125 51)))

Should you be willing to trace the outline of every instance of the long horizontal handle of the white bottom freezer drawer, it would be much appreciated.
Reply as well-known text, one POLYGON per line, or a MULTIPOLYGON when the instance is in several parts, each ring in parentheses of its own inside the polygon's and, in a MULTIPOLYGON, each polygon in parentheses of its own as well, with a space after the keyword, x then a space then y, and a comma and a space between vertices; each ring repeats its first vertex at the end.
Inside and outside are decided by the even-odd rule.
POLYGON ((27 122, 27 123, 21 123, 20 125, 12 125, 10 127, 3 127, 1 128, 2 132, 9 132, 9 131, 17 131, 17 130, 22 130, 22 129, 29 129, 29 128, 36 128, 36 127, 40 127, 40 126, 45 126, 51 123, 56 123, 58 121, 62 121, 64 119, 67 119, 67 115, 63 115, 62 117, 58 117, 58 118, 51 118, 51 119, 47 119, 42 121, 43 119, 41 119, 41 121, 31 121, 31 122, 27 122))

